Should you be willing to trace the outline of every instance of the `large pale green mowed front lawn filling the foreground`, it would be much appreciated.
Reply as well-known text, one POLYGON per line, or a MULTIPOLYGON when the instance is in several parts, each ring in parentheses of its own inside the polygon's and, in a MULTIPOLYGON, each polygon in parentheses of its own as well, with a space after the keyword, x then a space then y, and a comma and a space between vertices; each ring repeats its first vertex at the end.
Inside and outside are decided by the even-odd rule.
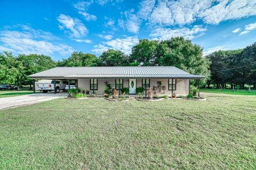
POLYGON ((202 95, 0 111, 0 169, 255 169, 256 97, 202 95))

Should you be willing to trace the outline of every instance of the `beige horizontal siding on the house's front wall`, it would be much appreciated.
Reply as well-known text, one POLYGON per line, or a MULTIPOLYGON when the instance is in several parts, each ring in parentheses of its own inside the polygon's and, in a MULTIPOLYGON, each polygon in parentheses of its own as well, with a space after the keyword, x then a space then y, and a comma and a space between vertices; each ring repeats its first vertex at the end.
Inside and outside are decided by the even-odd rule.
MULTIPOLYGON (((137 79, 137 87, 141 87, 142 79, 137 79)), ((108 81, 109 84, 115 86, 115 79, 98 79, 98 90, 94 90, 98 95, 102 95, 104 93, 104 90, 106 89, 106 86, 104 84, 104 81, 108 81)), ((124 81, 124 87, 129 87, 129 79, 123 79, 124 81)), ((172 95, 172 91, 168 90, 168 79, 150 79, 150 86, 156 86, 157 87, 157 81, 162 82, 162 86, 166 87, 165 94, 166 95, 172 95)), ((78 79, 78 87, 81 90, 90 90, 90 79, 78 79)), ((175 94, 177 96, 180 95, 188 95, 189 91, 189 80, 188 79, 177 79, 177 86, 176 86, 175 94)), ((90 90, 92 92, 92 90, 90 90)), ((157 95, 163 95, 159 94, 157 90, 157 95)))

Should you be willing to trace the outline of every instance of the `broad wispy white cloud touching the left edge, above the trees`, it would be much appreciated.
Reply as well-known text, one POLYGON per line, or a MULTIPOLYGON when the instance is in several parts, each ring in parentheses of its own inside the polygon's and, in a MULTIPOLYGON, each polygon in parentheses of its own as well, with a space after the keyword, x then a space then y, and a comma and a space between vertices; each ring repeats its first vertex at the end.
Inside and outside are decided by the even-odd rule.
POLYGON ((72 47, 65 44, 50 42, 50 32, 34 30, 27 25, 19 28, 21 31, 6 29, 0 31, 0 41, 12 51, 21 54, 36 53, 45 55, 54 53, 69 55, 74 51, 72 47))

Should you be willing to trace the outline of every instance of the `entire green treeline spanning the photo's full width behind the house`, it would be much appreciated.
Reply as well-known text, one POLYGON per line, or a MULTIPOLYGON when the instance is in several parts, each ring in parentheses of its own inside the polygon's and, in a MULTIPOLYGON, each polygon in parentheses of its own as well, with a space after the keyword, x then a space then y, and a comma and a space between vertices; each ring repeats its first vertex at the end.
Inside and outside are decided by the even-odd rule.
POLYGON ((132 47, 130 55, 114 49, 103 52, 99 57, 74 52, 61 61, 54 61, 46 55, 13 56, 3 52, 0 54, 0 84, 29 85, 31 78, 28 75, 57 66, 176 66, 191 74, 205 75, 201 85, 255 85, 255 44, 244 49, 214 52, 206 57, 203 57, 201 46, 183 37, 163 41, 142 39, 132 47), (239 68, 227 70, 235 67, 239 68))

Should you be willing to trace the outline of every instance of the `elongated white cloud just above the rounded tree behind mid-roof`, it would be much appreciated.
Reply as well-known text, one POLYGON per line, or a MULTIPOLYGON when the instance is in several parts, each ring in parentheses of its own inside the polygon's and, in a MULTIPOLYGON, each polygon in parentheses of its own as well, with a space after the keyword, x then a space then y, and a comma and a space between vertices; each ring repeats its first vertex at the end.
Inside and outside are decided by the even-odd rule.
POLYGON ((92 51, 100 54, 108 49, 116 49, 121 50, 125 54, 130 54, 132 47, 137 43, 139 43, 138 37, 116 38, 114 40, 95 45, 92 51))

